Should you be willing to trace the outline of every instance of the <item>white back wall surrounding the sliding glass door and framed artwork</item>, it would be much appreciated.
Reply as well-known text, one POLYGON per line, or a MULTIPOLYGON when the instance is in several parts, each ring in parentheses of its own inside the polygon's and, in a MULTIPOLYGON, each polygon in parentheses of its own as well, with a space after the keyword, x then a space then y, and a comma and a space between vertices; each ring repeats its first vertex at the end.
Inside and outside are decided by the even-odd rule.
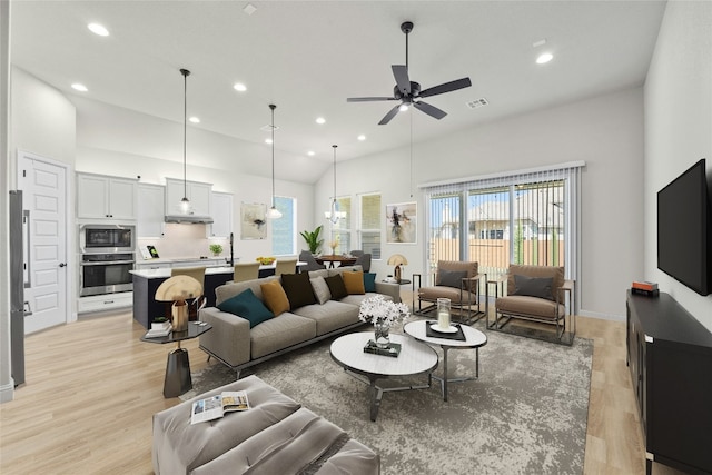
MULTIPOLYGON (((446 120, 446 119, 444 119, 446 120)), ((393 125, 394 122, 392 122, 393 125)), ((419 122, 425 127, 427 122, 419 122)), ((390 127, 390 125, 388 126, 390 127)), ((417 136, 417 128, 415 128, 417 136)), ((625 289, 643 275, 643 91, 632 88, 464 130, 413 152, 417 184, 584 160, 582 175, 581 315, 625 318, 625 289)), ((337 195, 380 191, 383 204, 411 199, 409 150, 338 164, 337 195)), ((330 172, 317 184, 326 209, 330 172)), ((320 207, 319 207, 320 205, 320 207)), ((423 216, 422 211, 418 211, 423 216)), ((384 227, 385 231, 385 219, 384 227)), ((328 227, 327 227, 328 230, 328 227)), ((423 234, 421 234, 421 237, 423 234)), ((423 241, 385 245, 384 258, 404 254, 406 275, 423 273, 423 241)), ((379 276, 390 273, 374 263, 379 276)))

